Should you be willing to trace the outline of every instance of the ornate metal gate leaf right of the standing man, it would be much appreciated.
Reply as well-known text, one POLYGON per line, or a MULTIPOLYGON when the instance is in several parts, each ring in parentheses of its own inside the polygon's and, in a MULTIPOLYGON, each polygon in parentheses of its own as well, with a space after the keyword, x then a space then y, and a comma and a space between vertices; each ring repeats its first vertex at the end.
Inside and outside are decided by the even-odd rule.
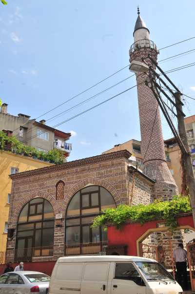
POLYGON ((195 291, 195 240, 187 244, 188 264, 192 291, 195 291))

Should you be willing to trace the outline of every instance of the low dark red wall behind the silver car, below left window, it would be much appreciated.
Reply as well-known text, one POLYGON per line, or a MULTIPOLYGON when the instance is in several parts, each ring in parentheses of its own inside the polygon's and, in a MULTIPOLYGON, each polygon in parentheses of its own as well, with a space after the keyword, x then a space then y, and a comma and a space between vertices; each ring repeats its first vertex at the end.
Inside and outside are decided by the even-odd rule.
MULTIPOLYGON (((36 271, 51 275, 55 266, 55 261, 42 261, 42 262, 24 262, 25 271, 36 271)), ((15 268, 18 264, 14 263, 12 266, 15 268)), ((0 264, 0 274, 4 272, 6 265, 0 264)))

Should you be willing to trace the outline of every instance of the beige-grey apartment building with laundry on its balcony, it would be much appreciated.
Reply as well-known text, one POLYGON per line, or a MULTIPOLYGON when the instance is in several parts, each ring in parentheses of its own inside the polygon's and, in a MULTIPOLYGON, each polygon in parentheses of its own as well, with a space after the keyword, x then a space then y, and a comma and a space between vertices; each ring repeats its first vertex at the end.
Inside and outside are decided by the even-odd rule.
POLYGON ((67 142, 71 133, 66 133, 45 125, 45 120, 37 122, 29 115, 19 113, 18 116, 7 112, 8 105, 1 105, 0 130, 9 130, 23 144, 47 152, 54 148, 61 150, 65 157, 69 156, 72 145, 67 142))

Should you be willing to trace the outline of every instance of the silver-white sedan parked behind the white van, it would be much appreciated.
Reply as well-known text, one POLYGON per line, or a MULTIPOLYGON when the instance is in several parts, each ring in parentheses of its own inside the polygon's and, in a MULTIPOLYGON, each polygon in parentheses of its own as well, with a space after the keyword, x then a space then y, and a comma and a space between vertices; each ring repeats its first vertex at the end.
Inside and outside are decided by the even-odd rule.
POLYGON ((45 273, 21 271, 0 276, 0 294, 48 294, 50 276, 45 273))

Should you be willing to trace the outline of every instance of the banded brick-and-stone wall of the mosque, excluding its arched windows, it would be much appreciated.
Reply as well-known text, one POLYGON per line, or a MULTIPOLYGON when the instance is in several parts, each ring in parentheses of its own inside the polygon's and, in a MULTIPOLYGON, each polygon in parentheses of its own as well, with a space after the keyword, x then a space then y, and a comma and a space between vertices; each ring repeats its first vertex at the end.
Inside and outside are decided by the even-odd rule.
MULTIPOLYGON (((57 259, 64 255, 65 240, 65 213, 67 205, 74 194, 86 185, 98 185, 107 189, 115 199, 117 205, 129 203, 129 177, 128 151, 117 151, 103 154, 87 159, 68 162, 50 168, 40 168, 33 171, 12 175, 12 201, 10 204, 10 215, 8 228, 15 229, 14 238, 7 242, 8 260, 14 258, 16 242, 17 220, 22 207, 34 197, 47 199, 54 210, 55 216, 62 213, 61 219, 55 219, 54 230, 54 256, 49 260, 57 259), (64 199, 56 200, 56 184, 63 181, 64 199), (61 227, 57 227, 61 224, 61 227)), ((133 201, 137 203, 148 203, 151 199, 151 188, 135 179, 133 190, 133 201), (141 195, 141 197, 140 197, 141 195), (145 199, 144 199, 145 197, 145 199)), ((48 257, 37 257, 45 260, 48 257)))

